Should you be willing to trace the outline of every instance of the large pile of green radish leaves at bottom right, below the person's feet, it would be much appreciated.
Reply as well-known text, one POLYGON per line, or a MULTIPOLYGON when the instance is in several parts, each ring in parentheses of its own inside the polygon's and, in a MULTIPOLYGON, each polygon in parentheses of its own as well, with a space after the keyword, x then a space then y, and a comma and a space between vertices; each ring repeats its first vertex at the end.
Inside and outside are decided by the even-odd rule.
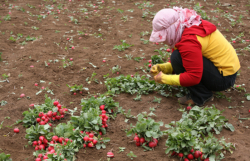
POLYGON ((198 106, 193 107, 189 113, 184 112, 180 121, 166 125, 169 129, 164 132, 168 134, 165 153, 182 153, 186 157, 194 149, 202 151, 204 159, 222 159, 222 149, 230 151, 233 146, 231 143, 225 143, 223 139, 218 142, 211 132, 220 134, 223 127, 234 131, 234 127, 221 114, 215 107, 201 109, 198 106), (207 134, 208 137, 205 136, 207 134))

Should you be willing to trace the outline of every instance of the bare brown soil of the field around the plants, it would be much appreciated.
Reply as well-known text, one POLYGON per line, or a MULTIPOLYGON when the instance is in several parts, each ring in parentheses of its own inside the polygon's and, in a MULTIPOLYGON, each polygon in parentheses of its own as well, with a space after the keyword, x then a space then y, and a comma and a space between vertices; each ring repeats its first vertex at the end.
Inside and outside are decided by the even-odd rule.
MULTIPOLYGON (((4 121, 3 128, 0 130, 0 149, 2 152, 11 154, 14 161, 34 160, 32 155, 34 148, 32 146, 25 148, 28 141, 25 139, 25 128, 23 128, 21 124, 17 125, 20 129, 19 134, 14 134, 13 128, 8 128, 6 126, 15 123, 18 119, 22 119, 22 112, 28 110, 31 103, 44 103, 45 92, 36 95, 36 92, 38 92, 42 86, 52 89, 55 95, 48 95, 52 98, 59 99, 64 106, 70 109, 74 107, 80 108, 79 103, 81 99, 85 98, 87 95, 71 95, 66 84, 83 84, 84 87, 90 89, 91 94, 104 93, 107 90, 104 85, 103 75, 109 73, 110 77, 116 77, 117 75, 112 74, 110 71, 114 65, 121 66, 120 74, 127 75, 135 74, 136 72, 144 74, 141 70, 137 70, 136 68, 143 66, 146 60, 150 59, 151 55, 157 54, 154 50, 162 47, 162 44, 158 46, 152 43, 145 45, 140 41, 140 32, 151 31, 152 18, 149 18, 149 16, 145 19, 142 18, 142 10, 138 9, 138 6, 134 4, 138 1, 116 0, 115 3, 113 3, 114 1, 112 0, 105 0, 105 3, 100 5, 103 6, 103 8, 96 9, 96 13, 93 7, 86 6, 86 3, 89 3, 89 1, 72 1, 73 2, 57 0, 57 2, 54 3, 49 0, 46 2, 34 0, 0 1, 0 21, 2 21, 0 23, 0 52, 2 52, 3 59, 3 61, 0 62, 0 74, 9 74, 9 82, 0 83, 0 101, 5 100, 8 102, 7 105, 1 106, 0 111, 0 122, 4 121), (45 7, 39 7, 41 4, 58 5, 59 3, 64 4, 63 8, 66 7, 68 10, 62 10, 58 15, 49 15, 41 21, 37 20, 37 16, 31 16, 47 13, 45 7), (9 4, 13 4, 16 7, 18 6, 18 8, 23 8, 25 12, 6 7, 9 6, 9 4), (29 8, 27 4, 35 8, 29 8), (80 8, 87 8, 91 11, 88 15, 88 19, 85 18, 86 14, 79 12, 80 8), (124 10, 123 15, 128 16, 128 21, 124 22, 121 20, 123 15, 119 13, 117 9, 124 10), (134 11, 128 12, 128 9, 134 9, 134 11), (8 15, 9 11, 11 11, 11 20, 4 21, 3 18, 8 15), (78 19, 79 24, 69 22, 70 18, 68 16, 73 14, 75 14, 74 18, 78 19), (55 16, 58 16, 58 19, 54 18, 55 16), (25 25, 25 22, 28 24, 25 25), (36 26, 39 29, 34 30, 31 28, 32 26, 36 26), (60 32, 56 33, 56 30, 60 32), (83 31, 88 35, 78 35, 77 31, 83 31), (17 35, 18 33, 23 34, 23 37, 16 42, 11 42, 9 40, 10 36, 17 35), (102 37, 97 38, 94 35, 90 35, 94 33, 101 33, 102 37), (130 38, 129 35, 131 34, 132 37, 130 38), (35 41, 27 41, 27 44, 24 46, 20 45, 28 35, 30 37, 39 38, 35 41), (71 43, 67 41, 68 37, 73 37, 74 42, 71 43), (79 39, 79 37, 82 37, 82 39, 79 39), (120 40, 126 40, 128 44, 134 44, 134 46, 123 52, 112 50, 115 45, 121 44, 120 40), (70 45, 74 45, 75 49, 69 49, 70 45), (65 50, 66 46, 68 47, 67 51, 65 50), (126 54, 132 54, 133 57, 139 57, 142 56, 142 53, 145 53, 144 56, 146 60, 140 63, 134 60, 127 60, 125 57, 126 54), (66 59, 73 58, 73 66, 62 68, 63 63, 61 59, 63 57, 66 59), (107 60, 105 64, 102 63, 104 58, 107 60), (48 62, 49 59, 58 59, 60 61, 50 63, 50 65, 46 67, 45 61, 48 62), (89 62, 96 65, 97 68, 93 68, 89 62), (31 65, 34 67, 31 68, 31 65), (86 70, 83 70, 84 67, 87 67, 86 70), (88 84, 85 81, 87 77, 91 77, 93 72, 97 73, 96 78, 101 81, 102 84, 96 84, 94 82, 88 84), (40 83, 40 80, 44 80, 46 83, 40 83), (49 84, 49 82, 52 83, 49 84), (39 86, 35 87, 34 83, 39 83, 39 86), (21 93, 24 93, 31 99, 19 100, 18 98, 21 93), (5 118, 7 116, 9 116, 10 119, 5 118)), ((142 3, 142 1, 139 2, 142 3)), ((153 0, 151 2, 155 4, 155 6, 149 9, 150 11, 156 12, 163 7, 167 7, 169 4, 170 6, 193 8, 194 4, 199 1, 181 0, 176 3, 176 1, 173 0, 153 0)), ((236 36, 242 32, 245 33, 245 36, 242 37, 243 40, 250 39, 248 33, 250 31, 248 20, 249 14, 247 11, 249 9, 249 1, 220 1, 221 4, 230 3, 231 6, 215 5, 216 2, 217 0, 207 0, 206 2, 200 1, 210 18, 218 16, 217 20, 211 19, 210 21, 217 25, 218 29, 229 41, 231 41, 231 38, 236 38, 236 36), (221 9, 221 11, 211 12, 211 9, 215 10, 217 8, 221 9), (230 21, 223 17, 225 11, 237 16, 237 20, 240 15, 243 15, 242 23, 238 23, 236 26, 231 27, 230 21), (220 23, 220 25, 218 23, 220 23)), ((97 4, 97 1, 92 3, 97 4)), ((149 39, 149 35, 143 38, 147 40, 149 39)), ((241 62, 240 75, 237 77, 236 84, 245 84, 244 87, 246 91, 250 90, 250 79, 248 74, 250 70, 249 49, 248 51, 244 49, 248 45, 249 42, 240 43, 239 39, 233 44, 235 49, 237 49, 241 62)), ((219 110, 225 110, 223 115, 226 116, 229 122, 235 127, 235 132, 224 129, 222 133, 218 135, 218 138, 224 136, 227 141, 236 145, 234 153, 227 153, 224 160, 247 161, 250 158, 250 139, 248 138, 248 133, 250 132, 248 126, 250 126, 250 123, 248 120, 242 120, 241 122, 238 120, 238 117, 239 114, 242 118, 250 117, 248 112, 250 101, 247 101, 246 97, 244 97, 246 93, 244 91, 238 92, 231 90, 230 92, 223 93, 231 98, 231 102, 228 102, 226 99, 215 98, 213 102, 207 105, 210 106, 214 104, 219 110), (229 106, 235 108, 229 109, 229 106)), ((116 97, 115 100, 118 101, 126 111, 131 109, 133 115, 137 115, 143 111, 149 111, 149 107, 159 106, 155 112, 157 117, 154 117, 154 119, 156 121, 162 120, 165 124, 181 118, 181 112, 178 111, 180 106, 177 104, 177 98, 174 96, 165 98, 159 94, 144 95, 142 96, 142 101, 139 102, 134 101, 134 97, 135 96, 129 94, 121 94, 116 97), (152 103, 154 96, 162 98, 161 104, 152 103)), ((110 149, 113 149, 115 154, 115 158, 112 160, 117 161, 130 160, 126 156, 129 151, 133 151, 134 154, 137 155, 137 158, 134 159, 135 161, 179 160, 177 158, 168 158, 164 153, 167 136, 159 141, 159 145, 154 151, 144 152, 142 148, 138 148, 133 143, 129 143, 132 137, 126 137, 126 133, 123 131, 123 129, 128 126, 128 124, 124 122, 124 119, 124 116, 118 115, 115 121, 110 121, 106 136, 110 137, 111 141, 107 145, 107 149, 81 149, 80 152, 77 153, 78 160, 106 160, 106 154, 110 149), (126 150, 118 154, 119 147, 126 147, 126 150)), ((67 117, 66 120, 69 120, 69 117, 67 117)), ((130 119, 129 124, 135 124, 135 122, 136 120, 130 119)))

